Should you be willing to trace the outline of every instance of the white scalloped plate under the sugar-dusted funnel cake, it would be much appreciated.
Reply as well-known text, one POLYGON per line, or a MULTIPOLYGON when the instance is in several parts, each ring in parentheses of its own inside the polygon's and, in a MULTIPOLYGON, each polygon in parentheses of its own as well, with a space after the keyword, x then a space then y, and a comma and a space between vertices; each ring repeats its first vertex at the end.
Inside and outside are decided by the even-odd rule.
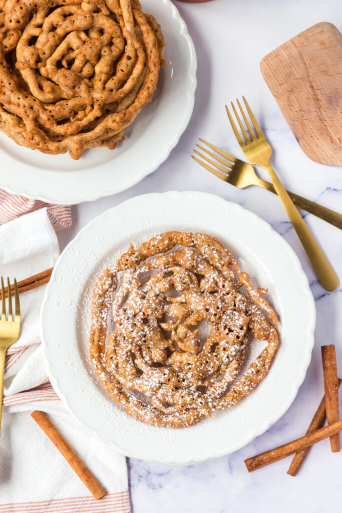
POLYGON ((308 280, 291 247, 252 212, 203 192, 145 194, 107 210, 59 258, 42 308, 49 376, 75 417, 127 456, 189 464, 234 452, 289 408, 310 363, 315 325, 308 280), (98 381, 89 352, 91 295, 119 254, 167 230, 210 233, 230 247, 280 319, 280 346, 266 378, 239 404, 189 428, 152 427, 130 417, 98 381))

